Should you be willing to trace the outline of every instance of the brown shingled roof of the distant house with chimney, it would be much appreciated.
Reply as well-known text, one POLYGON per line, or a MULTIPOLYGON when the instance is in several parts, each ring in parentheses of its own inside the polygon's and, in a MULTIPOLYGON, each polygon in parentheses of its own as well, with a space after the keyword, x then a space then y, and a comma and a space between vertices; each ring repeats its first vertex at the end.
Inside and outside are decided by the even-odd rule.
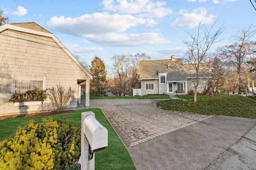
POLYGON ((196 76, 192 64, 183 64, 182 59, 140 61, 138 73, 140 80, 158 79, 160 73, 167 73, 167 81, 186 81, 196 76))

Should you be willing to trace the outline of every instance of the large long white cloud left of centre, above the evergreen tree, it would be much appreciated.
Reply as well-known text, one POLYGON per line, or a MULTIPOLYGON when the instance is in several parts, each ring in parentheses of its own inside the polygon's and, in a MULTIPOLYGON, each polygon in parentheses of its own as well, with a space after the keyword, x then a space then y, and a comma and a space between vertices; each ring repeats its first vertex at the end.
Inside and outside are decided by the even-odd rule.
POLYGON ((54 31, 68 33, 75 36, 86 36, 87 34, 104 34, 112 32, 122 32, 139 24, 148 26, 155 25, 153 20, 137 18, 131 15, 119 15, 94 13, 84 14, 76 18, 65 18, 64 16, 52 17, 48 21, 48 27, 54 31))

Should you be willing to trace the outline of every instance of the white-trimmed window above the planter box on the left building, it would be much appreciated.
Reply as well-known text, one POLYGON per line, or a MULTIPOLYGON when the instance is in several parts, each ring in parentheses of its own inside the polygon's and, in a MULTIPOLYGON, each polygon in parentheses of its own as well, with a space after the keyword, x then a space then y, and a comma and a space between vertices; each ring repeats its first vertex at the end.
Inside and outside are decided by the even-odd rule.
POLYGON ((43 90, 43 80, 15 80, 14 87, 14 93, 24 93, 35 88, 43 90))

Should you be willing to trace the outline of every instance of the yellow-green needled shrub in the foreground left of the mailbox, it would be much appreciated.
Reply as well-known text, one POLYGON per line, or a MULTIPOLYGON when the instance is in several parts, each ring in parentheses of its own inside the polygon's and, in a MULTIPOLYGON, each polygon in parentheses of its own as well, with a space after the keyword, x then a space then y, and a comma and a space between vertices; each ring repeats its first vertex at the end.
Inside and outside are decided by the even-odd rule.
POLYGON ((0 142, 0 170, 60 170, 78 159, 81 128, 64 119, 33 120, 0 142))

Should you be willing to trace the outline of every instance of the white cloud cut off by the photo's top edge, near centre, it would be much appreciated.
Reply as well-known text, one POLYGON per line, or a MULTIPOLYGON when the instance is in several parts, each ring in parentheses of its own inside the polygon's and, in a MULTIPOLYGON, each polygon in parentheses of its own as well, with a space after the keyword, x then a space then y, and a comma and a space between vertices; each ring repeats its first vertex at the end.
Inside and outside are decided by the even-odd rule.
POLYGON ((164 8, 166 2, 151 0, 103 0, 105 10, 122 14, 138 14, 138 16, 162 18, 172 14, 170 8, 164 8))

